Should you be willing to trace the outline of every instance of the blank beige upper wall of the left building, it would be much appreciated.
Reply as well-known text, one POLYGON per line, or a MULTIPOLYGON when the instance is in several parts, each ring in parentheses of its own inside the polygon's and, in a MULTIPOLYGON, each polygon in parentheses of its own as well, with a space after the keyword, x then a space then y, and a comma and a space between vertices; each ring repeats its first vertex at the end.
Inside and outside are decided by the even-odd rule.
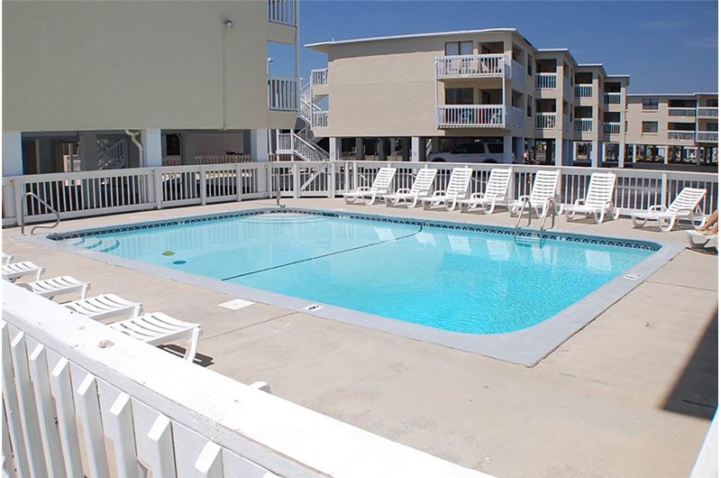
POLYGON ((290 127, 268 110, 266 59, 294 35, 265 2, 6 1, 3 129, 290 127))

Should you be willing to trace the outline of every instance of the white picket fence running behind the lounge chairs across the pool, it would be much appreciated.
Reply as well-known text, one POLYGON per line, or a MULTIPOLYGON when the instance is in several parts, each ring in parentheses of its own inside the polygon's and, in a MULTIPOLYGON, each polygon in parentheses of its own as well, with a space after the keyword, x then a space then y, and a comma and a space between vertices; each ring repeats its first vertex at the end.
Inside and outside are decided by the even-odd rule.
MULTIPOLYGON (((163 207, 198 206, 246 199, 335 198, 360 186, 370 186, 376 171, 384 166, 398 168, 394 188, 409 188, 415 172, 436 168, 435 188, 443 189, 454 167, 469 167, 476 172, 471 192, 485 188, 493 168, 512 168, 509 195, 517 198, 530 192, 534 172, 555 169, 552 166, 520 164, 452 164, 395 161, 272 161, 214 165, 169 166, 129 170, 104 170, 37 174, 3 178, 3 225, 19 225, 23 202, 24 223, 53 220, 54 215, 41 206, 32 192, 59 211, 61 219, 123 213, 163 207)), ((654 204, 669 205, 684 187, 705 188, 702 204, 708 214, 717 206, 718 174, 638 170, 613 170, 616 206, 621 214, 646 209, 654 204)), ((561 203, 571 204, 583 198, 592 168, 561 167, 558 195, 561 203)))

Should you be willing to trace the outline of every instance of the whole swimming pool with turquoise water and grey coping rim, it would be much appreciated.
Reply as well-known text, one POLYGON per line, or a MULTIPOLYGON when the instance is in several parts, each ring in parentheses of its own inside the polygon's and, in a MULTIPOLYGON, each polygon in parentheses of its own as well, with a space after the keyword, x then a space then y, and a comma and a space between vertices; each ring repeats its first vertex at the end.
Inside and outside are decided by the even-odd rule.
POLYGON ((243 299, 525 364, 675 254, 643 241, 553 232, 539 247, 504 227, 277 208, 50 238, 243 299))

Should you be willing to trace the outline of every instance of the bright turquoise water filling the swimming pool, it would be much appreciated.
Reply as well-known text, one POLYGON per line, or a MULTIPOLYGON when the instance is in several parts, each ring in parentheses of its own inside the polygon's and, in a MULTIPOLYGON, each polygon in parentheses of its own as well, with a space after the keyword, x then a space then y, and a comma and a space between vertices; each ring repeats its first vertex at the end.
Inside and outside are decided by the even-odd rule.
POLYGON ((424 326, 534 326, 653 250, 334 216, 261 214, 65 240, 96 251, 424 326))

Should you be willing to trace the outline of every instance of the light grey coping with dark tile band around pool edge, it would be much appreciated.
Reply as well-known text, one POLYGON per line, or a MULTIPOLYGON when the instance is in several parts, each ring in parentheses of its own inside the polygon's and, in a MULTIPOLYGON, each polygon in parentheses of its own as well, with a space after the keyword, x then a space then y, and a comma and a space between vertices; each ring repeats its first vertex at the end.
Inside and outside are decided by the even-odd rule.
POLYGON ((354 326, 370 327, 397 336, 432 343, 435 345, 448 346, 475 354, 481 354, 498 360, 510 363, 519 363, 525 366, 534 366, 545 356, 551 354, 556 348, 567 341, 571 336, 577 334, 583 327, 588 326, 595 318, 599 317, 607 308, 610 308, 618 300, 634 290, 643 283, 653 272, 658 271, 664 264, 670 262, 677 254, 685 249, 684 244, 668 243, 663 241, 645 241, 638 239, 626 239, 605 234, 578 234, 553 229, 549 236, 561 240, 574 240, 575 242, 594 242, 597 244, 621 245, 635 244, 634 247, 657 250, 649 257, 634 265, 632 270, 626 271, 624 276, 608 281, 598 288, 570 305, 563 308, 558 314, 549 317, 543 322, 515 332, 500 334, 464 334, 460 332, 436 329, 430 326, 422 326, 389 317, 381 317, 349 308, 342 308, 321 302, 311 302, 307 299, 297 299, 267 290, 254 289, 238 284, 225 282, 224 280, 211 279, 196 274, 174 271, 162 266, 138 262, 114 256, 108 253, 88 250, 71 244, 62 244, 51 237, 78 237, 85 234, 93 234, 99 231, 119 231, 123 228, 145 229, 160 227, 162 225, 178 225, 183 223, 205 222, 208 220, 222 220, 235 216, 251 216, 268 213, 296 213, 313 216, 341 216, 353 217, 371 221, 389 222, 395 224, 425 224, 440 226, 449 229, 471 230, 495 234, 513 234, 513 227, 499 225, 470 224, 458 221, 438 221, 421 217, 398 217, 383 216, 365 213, 354 213, 345 210, 328 209, 307 209, 302 207, 259 207, 242 209, 233 213, 209 214, 200 216, 184 216, 172 219, 160 219, 146 222, 136 222, 125 225, 95 227, 78 229, 67 233, 49 234, 47 236, 33 236, 27 238, 30 242, 91 257, 100 262, 125 267, 134 271, 140 271, 157 275, 169 280, 177 280, 189 285, 209 290, 224 292, 229 295, 248 299, 255 302, 267 303, 272 306, 295 310, 315 317, 337 320, 354 326), (322 308, 308 310, 311 305, 319 305, 322 308))

